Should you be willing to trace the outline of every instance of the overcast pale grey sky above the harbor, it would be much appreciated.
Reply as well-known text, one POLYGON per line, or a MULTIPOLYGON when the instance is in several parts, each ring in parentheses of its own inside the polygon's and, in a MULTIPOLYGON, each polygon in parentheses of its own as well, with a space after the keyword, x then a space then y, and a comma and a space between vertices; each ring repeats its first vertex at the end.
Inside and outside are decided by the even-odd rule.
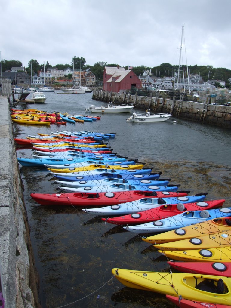
POLYGON ((230 0, 0 0, 3 60, 231 69, 230 0), (183 39, 181 34, 183 26, 183 39), (180 52, 181 51, 181 52, 180 52))

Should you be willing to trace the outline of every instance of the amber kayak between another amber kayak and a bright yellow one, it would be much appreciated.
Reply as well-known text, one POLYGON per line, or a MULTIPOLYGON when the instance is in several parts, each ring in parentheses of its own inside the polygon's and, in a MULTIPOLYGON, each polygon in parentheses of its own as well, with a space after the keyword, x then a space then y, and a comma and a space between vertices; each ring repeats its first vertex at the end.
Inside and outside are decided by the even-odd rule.
POLYGON ((154 244, 153 246, 161 250, 191 250, 231 246, 231 230, 191 237, 181 241, 154 244))

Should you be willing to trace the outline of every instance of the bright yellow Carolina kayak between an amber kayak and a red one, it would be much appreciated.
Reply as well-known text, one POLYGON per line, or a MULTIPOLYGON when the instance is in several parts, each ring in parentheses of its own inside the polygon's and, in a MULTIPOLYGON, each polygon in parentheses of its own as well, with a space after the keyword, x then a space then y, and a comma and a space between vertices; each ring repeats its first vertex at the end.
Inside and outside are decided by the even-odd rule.
POLYGON ((231 247, 193 250, 158 250, 168 258, 187 262, 231 262, 231 247))

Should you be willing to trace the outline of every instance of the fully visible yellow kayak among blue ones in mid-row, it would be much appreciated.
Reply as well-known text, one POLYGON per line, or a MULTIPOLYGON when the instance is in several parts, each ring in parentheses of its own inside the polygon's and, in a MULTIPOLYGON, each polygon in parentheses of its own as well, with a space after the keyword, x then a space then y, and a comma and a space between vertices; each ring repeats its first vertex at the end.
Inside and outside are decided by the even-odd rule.
MULTIPOLYGON (((124 165, 125 166, 125 165, 124 165)), ((126 165, 126 167, 121 166, 114 166, 114 165, 89 165, 89 166, 84 166, 84 167, 77 167, 77 168, 63 168, 63 169, 51 169, 48 168, 51 172, 60 172, 60 173, 65 173, 65 172, 77 172, 77 171, 87 171, 87 170, 94 170, 96 168, 103 168, 103 169, 143 169, 144 165, 142 164, 137 164, 137 165, 126 165), (71 169, 71 170, 70 170, 71 169)))

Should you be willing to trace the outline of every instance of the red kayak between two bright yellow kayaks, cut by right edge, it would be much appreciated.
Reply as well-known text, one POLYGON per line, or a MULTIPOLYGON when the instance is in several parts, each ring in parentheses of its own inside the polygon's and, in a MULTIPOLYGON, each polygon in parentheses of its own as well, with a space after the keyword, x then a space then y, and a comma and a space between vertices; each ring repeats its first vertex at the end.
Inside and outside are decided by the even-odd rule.
MULTIPOLYGON (((212 235, 211 235, 212 236, 212 235)), ((229 262, 174 262, 168 261, 174 269, 183 273, 231 277, 229 262)))

